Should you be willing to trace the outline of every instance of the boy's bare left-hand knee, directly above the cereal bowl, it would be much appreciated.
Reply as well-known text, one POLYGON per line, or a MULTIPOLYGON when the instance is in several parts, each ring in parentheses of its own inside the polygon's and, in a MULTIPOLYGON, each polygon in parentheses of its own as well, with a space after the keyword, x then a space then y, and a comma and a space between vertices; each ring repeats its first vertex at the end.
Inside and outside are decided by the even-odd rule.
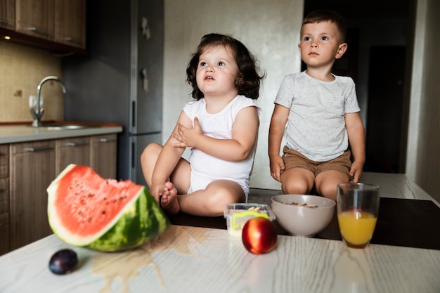
POLYGON ((285 194, 306 195, 313 188, 315 175, 304 168, 291 168, 281 174, 281 189, 285 194))

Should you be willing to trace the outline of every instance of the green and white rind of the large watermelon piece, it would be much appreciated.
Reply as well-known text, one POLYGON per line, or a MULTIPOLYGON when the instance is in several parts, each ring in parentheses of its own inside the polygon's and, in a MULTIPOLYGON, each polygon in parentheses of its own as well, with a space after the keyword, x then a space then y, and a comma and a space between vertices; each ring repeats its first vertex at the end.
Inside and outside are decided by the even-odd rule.
MULTIPOLYGON (((48 221, 53 233, 60 240, 73 246, 87 247, 101 252, 116 252, 143 245, 171 225, 153 195, 144 186, 138 185, 136 195, 98 233, 84 236, 68 230, 60 221, 55 202, 56 197, 63 194, 63 190, 58 190, 58 182, 75 167, 77 167, 75 164, 67 166, 47 188, 48 221)), ((93 170, 90 171, 96 174, 93 170)), ((87 185, 86 178, 83 180, 84 185, 87 185)))

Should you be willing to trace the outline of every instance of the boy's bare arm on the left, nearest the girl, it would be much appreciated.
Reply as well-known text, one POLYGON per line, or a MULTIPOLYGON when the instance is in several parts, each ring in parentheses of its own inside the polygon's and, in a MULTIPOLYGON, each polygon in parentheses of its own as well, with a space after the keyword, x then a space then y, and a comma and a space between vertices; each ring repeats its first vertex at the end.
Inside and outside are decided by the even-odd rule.
POLYGON ((285 168, 283 158, 280 156, 280 148, 289 112, 289 108, 276 104, 272 113, 271 126, 269 127, 268 155, 271 164, 271 176, 276 181, 281 181, 281 170, 285 168))

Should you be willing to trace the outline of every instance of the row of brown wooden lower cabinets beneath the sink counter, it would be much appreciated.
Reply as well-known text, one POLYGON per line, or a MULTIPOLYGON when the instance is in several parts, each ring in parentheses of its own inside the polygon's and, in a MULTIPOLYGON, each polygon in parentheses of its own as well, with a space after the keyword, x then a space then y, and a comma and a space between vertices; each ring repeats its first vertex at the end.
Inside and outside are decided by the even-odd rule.
POLYGON ((68 164, 116 178, 117 134, 0 145, 0 255, 52 233, 46 189, 68 164))

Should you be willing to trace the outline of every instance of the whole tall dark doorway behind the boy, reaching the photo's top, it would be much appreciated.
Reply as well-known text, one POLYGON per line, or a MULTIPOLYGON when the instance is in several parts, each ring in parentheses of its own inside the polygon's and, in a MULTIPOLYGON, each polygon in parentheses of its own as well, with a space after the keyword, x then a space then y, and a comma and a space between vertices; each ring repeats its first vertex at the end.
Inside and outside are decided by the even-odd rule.
POLYGON ((304 16, 332 9, 347 20, 347 56, 332 72, 356 83, 366 129, 364 171, 406 171, 410 84, 405 81, 411 77, 416 1, 304 0, 304 16), (384 34, 372 32, 371 27, 380 30, 378 23, 384 34))

